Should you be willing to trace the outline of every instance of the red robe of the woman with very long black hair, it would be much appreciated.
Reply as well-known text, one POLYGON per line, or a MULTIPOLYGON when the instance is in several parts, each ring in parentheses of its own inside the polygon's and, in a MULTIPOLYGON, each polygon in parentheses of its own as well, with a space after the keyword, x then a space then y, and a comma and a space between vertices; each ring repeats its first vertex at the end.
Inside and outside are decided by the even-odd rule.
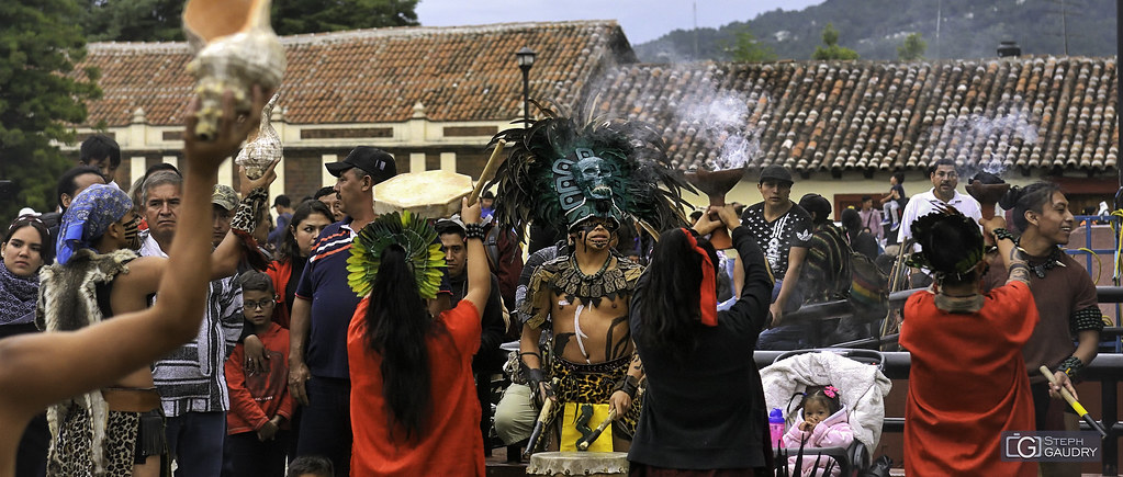
MULTIPOLYGON (((432 411, 421 435, 391 441, 386 401, 382 396, 382 357, 364 337, 369 296, 355 309, 347 329, 350 366, 353 476, 483 476, 484 442, 480 433, 480 400, 472 377, 472 357, 480 348, 480 312, 467 300, 440 314, 446 331, 426 337, 432 411)), ((404 435, 401 428, 395 437, 404 435)))

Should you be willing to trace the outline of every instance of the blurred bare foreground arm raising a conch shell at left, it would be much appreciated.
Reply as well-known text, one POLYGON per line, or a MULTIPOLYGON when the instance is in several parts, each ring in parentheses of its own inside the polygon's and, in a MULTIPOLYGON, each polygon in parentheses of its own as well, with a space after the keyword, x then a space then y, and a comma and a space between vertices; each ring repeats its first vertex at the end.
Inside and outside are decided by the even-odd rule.
MULTIPOLYGON (((210 223, 211 187, 218 167, 257 128, 267 95, 254 89, 250 116, 238 119, 234 99, 223 99, 218 137, 199 141, 184 134, 185 175, 180 220, 210 223)), ((185 117, 193 130, 199 101, 185 117)), ((125 313, 74 332, 27 334, 0 341, 0 428, 19 434, 27 419, 60 400, 111 384, 195 337, 210 279, 210 231, 180 227, 159 286, 159 300, 147 310, 125 313), (173 275, 174 274, 174 275, 173 275), (93 358, 93 359, 91 359, 93 358)), ((2 461, 2 459, 0 459, 2 461)), ((9 469, 0 468, 0 475, 9 469)))

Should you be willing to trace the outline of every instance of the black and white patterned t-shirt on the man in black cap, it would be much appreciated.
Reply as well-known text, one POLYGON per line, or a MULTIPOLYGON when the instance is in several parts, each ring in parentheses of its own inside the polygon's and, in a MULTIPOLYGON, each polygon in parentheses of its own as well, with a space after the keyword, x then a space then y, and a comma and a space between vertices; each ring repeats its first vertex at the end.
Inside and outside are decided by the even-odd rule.
POLYGON ((765 251, 768 266, 776 279, 783 279, 787 273, 787 253, 792 247, 807 248, 811 233, 811 214, 800 204, 793 203, 783 215, 768 222, 765 220, 765 203, 758 202, 745 209, 741 224, 749 228, 757 239, 757 245, 765 251))

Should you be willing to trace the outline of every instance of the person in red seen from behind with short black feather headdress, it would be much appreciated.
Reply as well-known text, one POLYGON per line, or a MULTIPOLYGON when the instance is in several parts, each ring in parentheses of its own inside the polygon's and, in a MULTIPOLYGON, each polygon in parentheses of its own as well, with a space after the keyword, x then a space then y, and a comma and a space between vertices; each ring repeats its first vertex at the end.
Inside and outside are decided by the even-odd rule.
POLYGON ((905 474, 1035 476, 1032 461, 1003 461, 1003 431, 1032 431, 1033 400, 1022 346, 1038 323, 1029 269, 1005 220, 982 221, 1010 270, 983 294, 979 227, 955 209, 913 222, 933 272, 931 288, 909 297, 900 342, 912 352, 905 406, 905 474))

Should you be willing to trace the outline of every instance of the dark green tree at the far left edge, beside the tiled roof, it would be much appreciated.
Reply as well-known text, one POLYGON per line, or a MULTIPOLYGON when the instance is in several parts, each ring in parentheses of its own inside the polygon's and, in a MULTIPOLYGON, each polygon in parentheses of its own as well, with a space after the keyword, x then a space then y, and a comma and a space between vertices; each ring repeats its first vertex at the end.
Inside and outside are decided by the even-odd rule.
POLYGON ((0 220, 54 208, 56 177, 73 165, 56 144, 74 141, 85 101, 101 95, 97 71, 74 71, 85 56, 80 15, 75 0, 0 1, 0 178, 16 192, 0 198, 0 220))

